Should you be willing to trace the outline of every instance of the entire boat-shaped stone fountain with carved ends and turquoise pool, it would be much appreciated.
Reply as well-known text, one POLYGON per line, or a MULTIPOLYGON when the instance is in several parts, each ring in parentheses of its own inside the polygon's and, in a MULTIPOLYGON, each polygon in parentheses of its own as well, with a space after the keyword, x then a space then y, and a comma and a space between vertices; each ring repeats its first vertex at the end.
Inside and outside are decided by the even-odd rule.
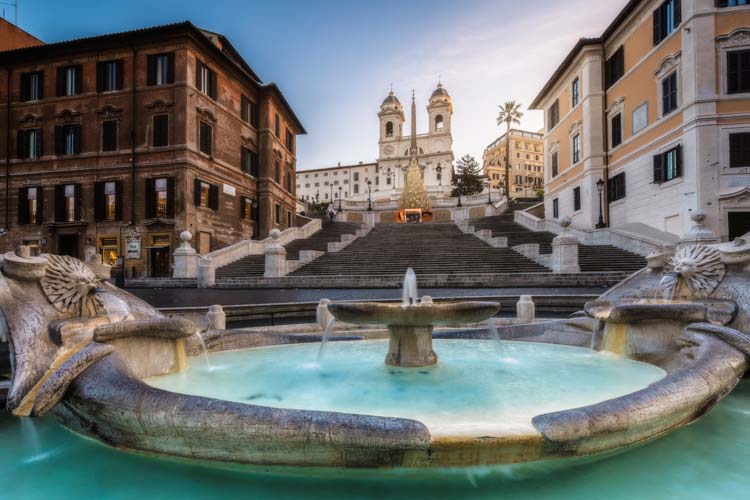
POLYGON ((8 407, 119 448, 263 466, 450 467, 623 450, 697 420, 748 368, 750 235, 705 241, 656 252, 569 319, 497 328, 477 323, 498 304, 420 300, 408 273, 400 304, 328 306, 339 330, 385 326, 387 340, 337 342, 329 327, 319 369, 317 325, 314 335, 210 330, 208 356, 221 367, 211 372, 190 366, 201 352, 187 347, 200 342, 192 323, 76 259, 22 247, 0 262, 8 407), (458 328, 434 331, 444 326, 458 328))

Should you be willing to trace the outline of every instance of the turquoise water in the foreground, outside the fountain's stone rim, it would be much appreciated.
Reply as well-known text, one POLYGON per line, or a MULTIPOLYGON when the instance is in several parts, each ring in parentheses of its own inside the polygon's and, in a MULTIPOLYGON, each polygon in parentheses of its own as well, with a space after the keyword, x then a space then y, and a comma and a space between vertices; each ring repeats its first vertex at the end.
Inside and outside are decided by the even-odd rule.
POLYGON ((628 453, 562 468, 223 470, 111 449, 50 417, 35 425, 38 445, 19 419, 0 416, 2 498, 739 500, 747 498, 750 471, 750 381, 687 428, 628 453))

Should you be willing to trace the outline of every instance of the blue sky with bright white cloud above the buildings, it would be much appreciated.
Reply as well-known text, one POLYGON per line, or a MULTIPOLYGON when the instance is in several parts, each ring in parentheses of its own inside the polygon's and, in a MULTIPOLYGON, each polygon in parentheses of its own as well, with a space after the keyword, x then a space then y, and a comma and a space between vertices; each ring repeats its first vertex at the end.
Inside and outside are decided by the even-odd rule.
MULTIPOLYGON (((481 161, 502 134, 498 105, 525 109, 576 40, 601 35, 626 0, 18 2, 19 26, 48 43, 183 20, 226 35, 307 129, 297 143, 306 170, 377 159, 377 113, 391 85, 406 107, 404 130, 414 89, 417 131, 426 132, 438 79, 453 99, 456 158, 481 161)), ((525 112, 522 128, 542 125, 542 112, 525 112)))

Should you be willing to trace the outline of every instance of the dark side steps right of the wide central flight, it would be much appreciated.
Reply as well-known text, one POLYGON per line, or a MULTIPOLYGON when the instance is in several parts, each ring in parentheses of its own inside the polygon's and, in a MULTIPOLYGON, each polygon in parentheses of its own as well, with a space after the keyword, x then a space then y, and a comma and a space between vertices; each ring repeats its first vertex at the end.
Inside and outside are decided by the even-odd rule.
MULTIPOLYGON (((515 209, 523 210, 526 204, 520 203, 515 209)), ((473 220, 470 225, 475 230, 490 230, 493 237, 508 239, 508 247, 539 244, 540 254, 552 253, 552 240, 557 236, 550 232, 536 232, 514 222, 513 212, 495 217, 484 217, 473 220)), ((646 259, 638 254, 628 252, 612 245, 580 245, 578 247, 578 265, 581 272, 621 271, 634 273, 646 267, 646 259)))

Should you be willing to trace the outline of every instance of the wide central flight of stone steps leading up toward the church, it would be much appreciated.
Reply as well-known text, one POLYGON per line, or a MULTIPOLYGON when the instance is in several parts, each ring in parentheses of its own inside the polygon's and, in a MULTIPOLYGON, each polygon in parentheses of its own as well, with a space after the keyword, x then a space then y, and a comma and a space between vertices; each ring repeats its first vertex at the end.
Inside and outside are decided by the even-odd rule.
POLYGON ((379 224, 338 253, 297 269, 302 276, 549 273, 510 248, 493 248, 453 223, 379 224))

